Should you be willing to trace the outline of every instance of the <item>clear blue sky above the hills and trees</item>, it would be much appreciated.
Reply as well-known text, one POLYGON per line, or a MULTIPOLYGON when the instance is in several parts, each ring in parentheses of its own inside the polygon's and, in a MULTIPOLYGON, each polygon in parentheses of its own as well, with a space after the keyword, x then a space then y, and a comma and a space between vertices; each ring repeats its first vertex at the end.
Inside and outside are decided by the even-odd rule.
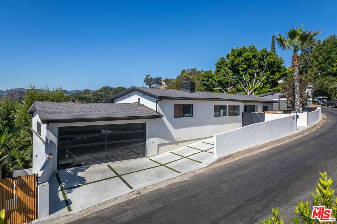
MULTIPOLYGON (((233 47, 270 50, 304 24, 337 33, 337 1, 1 1, 0 89, 141 86, 214 70, 233 47)), ((291 53, 276 47, 290 65, 291 53)))

